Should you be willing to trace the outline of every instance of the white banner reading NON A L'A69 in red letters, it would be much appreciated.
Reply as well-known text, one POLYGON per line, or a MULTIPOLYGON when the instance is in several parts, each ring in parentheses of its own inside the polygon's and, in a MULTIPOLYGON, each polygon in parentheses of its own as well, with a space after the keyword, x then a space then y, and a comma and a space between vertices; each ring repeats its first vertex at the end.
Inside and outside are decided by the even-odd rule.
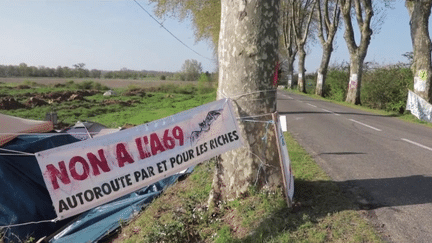
POLYGON ((243 145, 231 101, 36 154, 58 219, 243 145))

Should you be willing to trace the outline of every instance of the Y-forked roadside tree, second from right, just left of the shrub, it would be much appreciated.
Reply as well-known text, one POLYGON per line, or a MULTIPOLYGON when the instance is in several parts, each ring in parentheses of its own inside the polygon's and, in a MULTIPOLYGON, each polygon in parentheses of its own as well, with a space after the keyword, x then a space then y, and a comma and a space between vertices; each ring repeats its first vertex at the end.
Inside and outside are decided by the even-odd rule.
POLYGON ((350 53, 350 80, 346 102, 360 104, 360 88, 363 73, 363 62, 370 44, 372 29, 371 20, 374 15, 372 0, 341 0, 342 16, 345 24, 345 42, 350 53), (354 11, 354 15, 352 15, 354 11), (354 37, 351 17, 355 16, 360 30, 360 44, 354 37))

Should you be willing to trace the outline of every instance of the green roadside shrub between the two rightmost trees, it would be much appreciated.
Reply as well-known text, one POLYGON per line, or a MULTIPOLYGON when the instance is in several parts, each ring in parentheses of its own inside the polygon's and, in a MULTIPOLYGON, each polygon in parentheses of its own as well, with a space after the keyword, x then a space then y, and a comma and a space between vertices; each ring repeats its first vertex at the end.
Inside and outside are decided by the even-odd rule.
POLYGON ((412 80, 411 69, 400 65, 365 72, 362 79, 362 103, 374 109, 403 113, 408 89, 413 88, 412 80))

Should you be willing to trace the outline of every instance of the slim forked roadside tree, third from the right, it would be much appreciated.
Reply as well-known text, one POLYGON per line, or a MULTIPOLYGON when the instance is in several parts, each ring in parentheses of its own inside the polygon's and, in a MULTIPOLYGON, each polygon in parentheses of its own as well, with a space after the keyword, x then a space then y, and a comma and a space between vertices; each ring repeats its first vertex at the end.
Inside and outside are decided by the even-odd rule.
POLYGON ((339 0, 317 0, 318 3, 318 38, 323 49, 321 64, 317 74, 315 94, 323 96, 327 70, 333 52, 333 40, 339 27, 340 5, 339 0), (333 8, 333 10, 331 9, 333 8))

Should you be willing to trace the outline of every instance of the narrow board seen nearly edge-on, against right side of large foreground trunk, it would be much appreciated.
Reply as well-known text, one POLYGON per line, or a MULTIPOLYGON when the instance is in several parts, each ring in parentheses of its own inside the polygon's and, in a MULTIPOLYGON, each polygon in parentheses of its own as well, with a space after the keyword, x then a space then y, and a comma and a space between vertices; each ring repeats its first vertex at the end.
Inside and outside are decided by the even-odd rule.
MULTIPOLYGON (((291 170, 291 161, 289 159, 288 148, 286 146, 285 138, 283 135, 280 116, 277 114, 277 112, 273 113, 272 116, 273 122, 275 124, 275 133, 277 136, 276 145, 278 146, 279 150, 279 159, 281 162, 281 170, 285 187, 285 194, 287 197, 287 205, 288 207, 291 207, 294 197, 294 176, 291 170)), ((286 126, 286 124, 284 126, 286 126)))

